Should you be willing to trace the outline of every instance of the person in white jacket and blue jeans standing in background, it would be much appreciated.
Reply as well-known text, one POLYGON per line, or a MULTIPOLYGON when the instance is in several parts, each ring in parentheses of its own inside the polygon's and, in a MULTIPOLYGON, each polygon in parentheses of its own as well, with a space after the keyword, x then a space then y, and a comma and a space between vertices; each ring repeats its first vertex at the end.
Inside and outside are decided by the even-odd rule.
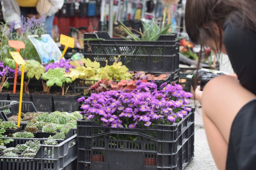
MULTIPOLYGON (((39 0, 2 0, 2 13, 4 20, 7 23, 14 23, 14 29, 20 33, 21 31, 21 16, 24 17, 34 17, 40 18, 40 14, 38 14, 36 5, 39 0)), ((52 37, 52 24, 54 15, 58 10, 60 10, 64 4, 64 0, 44 0, 43 4, 47 4, 42 8, 48 8, 49 10, 45 12, 44 17, 44 25, 46 29, 46 33, 48 33, 52 37)), ((44 10, 44 9, 42 9, 44 10)))

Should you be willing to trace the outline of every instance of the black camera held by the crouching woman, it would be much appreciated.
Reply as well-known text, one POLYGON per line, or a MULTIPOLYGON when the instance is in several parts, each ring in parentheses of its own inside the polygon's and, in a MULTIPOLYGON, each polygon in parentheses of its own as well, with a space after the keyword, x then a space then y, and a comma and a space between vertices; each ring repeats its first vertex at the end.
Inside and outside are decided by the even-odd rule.
POLYGON ((212 72, 208 72, 208 71, 201 70, 201 69, 194 70, 193 76, 191 78, 191 85, 194 90, 196 89, 196 86, 200 86, 201 90, 203 90, 204 86, 206 85, 206 83, 208 81, 210 81, 212 78, 220 76, 220 75, 224 75, 224 73, 214 74, 212 72), (196 74, 197 71, 198 71, 198 73, 196 74), (196 84, 194 82, 195 80, 197 81, 196 84))

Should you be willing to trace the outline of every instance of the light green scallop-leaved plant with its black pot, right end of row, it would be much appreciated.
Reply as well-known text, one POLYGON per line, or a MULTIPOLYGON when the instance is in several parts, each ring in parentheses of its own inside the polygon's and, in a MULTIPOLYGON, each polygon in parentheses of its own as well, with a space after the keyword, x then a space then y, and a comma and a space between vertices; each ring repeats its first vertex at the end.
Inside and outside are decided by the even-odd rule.
POLYGON ((64 72, 64 68, 49 68, 48 71, 42 75, 42 79, 46 80, 46 86, 51 87, 56 84, 62 89, 61 93, 52 95, 55 110, 67 112, 76 111, 78 110, 78 103, 76 101, 80 97, 80 93, 68 93, 69 87, 66 88, 65 83, 71 83, 72 80, 66 77, 64 72))

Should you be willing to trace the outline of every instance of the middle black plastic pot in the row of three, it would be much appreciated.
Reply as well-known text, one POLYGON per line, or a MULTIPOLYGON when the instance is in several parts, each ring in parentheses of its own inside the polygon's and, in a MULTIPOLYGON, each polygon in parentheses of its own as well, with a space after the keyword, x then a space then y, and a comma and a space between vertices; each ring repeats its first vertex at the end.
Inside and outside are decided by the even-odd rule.
POLYGON ((38 111, 54 111, 51 94, 31 94, 34 106, 38 111))

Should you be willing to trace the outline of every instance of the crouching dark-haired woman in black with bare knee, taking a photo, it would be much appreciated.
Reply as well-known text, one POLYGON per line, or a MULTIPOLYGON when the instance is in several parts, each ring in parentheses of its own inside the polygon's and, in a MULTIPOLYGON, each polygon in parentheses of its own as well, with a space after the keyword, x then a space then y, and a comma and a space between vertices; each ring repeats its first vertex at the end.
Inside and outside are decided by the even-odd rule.
POLYGON ((236 73, 195 90, 214 161, 219 170, 255 170, 256 0, 187 0, 185 26, 193 43, 227 54, 236 73))

